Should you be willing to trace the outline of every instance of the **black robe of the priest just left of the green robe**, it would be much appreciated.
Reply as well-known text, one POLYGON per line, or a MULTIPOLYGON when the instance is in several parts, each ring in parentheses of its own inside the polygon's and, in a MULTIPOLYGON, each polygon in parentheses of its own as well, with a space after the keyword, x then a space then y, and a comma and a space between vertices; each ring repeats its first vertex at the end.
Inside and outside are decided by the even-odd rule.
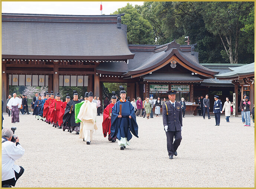
POLYGON ((80 127, 79 127, 80 123, 75 122, 75 105, 80 102, 81 102, 80 100, 77 100, 77 101, 75 101, 74 99, 70 100, 67 103, 67 106, 63 115, 63 126, 70 128, 72 131, 80 131, 80 127), (71 110, 71 113, 69 113, 72 105, 73 105, 73 108, 71 110))

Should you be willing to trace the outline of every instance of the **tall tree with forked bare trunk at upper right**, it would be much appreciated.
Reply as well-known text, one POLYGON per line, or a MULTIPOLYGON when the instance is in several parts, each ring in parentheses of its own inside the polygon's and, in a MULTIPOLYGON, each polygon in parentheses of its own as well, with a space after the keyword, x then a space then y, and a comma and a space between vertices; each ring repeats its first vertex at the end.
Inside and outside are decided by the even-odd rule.
POLYGON ((244 23, 241 17, 251 12, 254 2, 199 2, 205 28, 218 35, 231 64, 238 63, 239 41, 244 23))

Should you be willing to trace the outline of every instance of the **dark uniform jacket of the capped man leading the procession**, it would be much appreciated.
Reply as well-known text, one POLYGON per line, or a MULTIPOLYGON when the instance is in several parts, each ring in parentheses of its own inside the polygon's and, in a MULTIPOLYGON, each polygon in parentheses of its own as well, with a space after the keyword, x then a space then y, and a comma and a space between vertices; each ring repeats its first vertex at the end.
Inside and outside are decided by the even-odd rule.
POLYGON ((181 131, 182 127, 182 110, 181 104, 179 102, 175 102, 175 108, 168 101, 166 106, 163 105, 163 125, 168 125, 167 131, 181 131), (168 115, 166 114, 168 112, 168 115))

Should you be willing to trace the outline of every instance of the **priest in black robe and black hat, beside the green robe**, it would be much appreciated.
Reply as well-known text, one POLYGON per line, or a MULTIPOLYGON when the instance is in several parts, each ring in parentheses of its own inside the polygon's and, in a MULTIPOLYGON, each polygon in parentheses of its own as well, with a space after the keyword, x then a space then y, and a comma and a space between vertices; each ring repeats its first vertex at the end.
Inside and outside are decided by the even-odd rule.
POLYGON ((70 100, 67 103, 66 109, 65 109, 65 113, 63 115, 63 126, 68 127, 68 131, 71 133, 72 131, 76 131, 76 134, 79 135, 79 131, 80 131, 80 122, 76 123, 75 122, 75 105, 77 103, 80 103, 81 101, 78 100, 78 94, 76 91, 73 91, 74 95, 73 95, 73 99, 70 100))

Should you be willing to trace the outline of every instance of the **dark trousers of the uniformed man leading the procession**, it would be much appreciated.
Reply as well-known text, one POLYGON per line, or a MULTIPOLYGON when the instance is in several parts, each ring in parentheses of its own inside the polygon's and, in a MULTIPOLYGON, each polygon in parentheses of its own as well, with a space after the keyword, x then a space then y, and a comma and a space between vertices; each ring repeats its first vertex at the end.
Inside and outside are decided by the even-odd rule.
POLYGON ((167 151, 168 155, 172 156, 177 148, 180 145, 180 142, 182 140, 181 137, 181 131, 167 131, 166 137, 167 137, 167 151), (173 137, 175 137, 175 141, 173 142, 173 137))

